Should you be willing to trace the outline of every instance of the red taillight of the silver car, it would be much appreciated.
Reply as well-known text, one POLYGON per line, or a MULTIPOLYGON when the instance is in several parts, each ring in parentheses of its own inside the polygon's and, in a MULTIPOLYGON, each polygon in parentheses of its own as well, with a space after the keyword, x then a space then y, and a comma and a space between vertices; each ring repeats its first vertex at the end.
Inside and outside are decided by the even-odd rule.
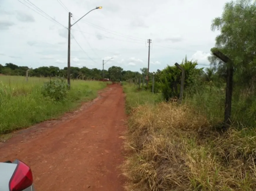
POLYGON ((14 174, 9 182, 10 191, 22 191, 33 183, 32 172, 29 166, 18 161, 14 174))

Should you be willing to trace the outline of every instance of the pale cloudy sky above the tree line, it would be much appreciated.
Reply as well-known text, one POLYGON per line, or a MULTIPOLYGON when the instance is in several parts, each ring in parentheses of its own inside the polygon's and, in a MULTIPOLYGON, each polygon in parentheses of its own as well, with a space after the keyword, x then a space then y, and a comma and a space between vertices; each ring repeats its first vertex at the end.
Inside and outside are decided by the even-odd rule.
POLYGON ((139 71, 164 69, 187 58, 207 67, 219 32, 210 26, 225 0, 0 0, 0 63, 37 68, 67 66, 68 12, 71 66, 139 71), (205 66, 206 65, 206 66, 205 66))

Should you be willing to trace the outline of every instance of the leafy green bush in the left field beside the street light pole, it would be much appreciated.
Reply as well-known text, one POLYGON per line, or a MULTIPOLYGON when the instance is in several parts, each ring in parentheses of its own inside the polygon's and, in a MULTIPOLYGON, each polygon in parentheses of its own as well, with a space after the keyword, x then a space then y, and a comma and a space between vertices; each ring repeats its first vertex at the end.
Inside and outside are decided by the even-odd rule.
POLYGON ((68 85, 64 81, 64 79, 50 80, 50 81, 44 82, 42 94, 45 97, 49 97, 51 99, 54 99, 55 101, 62 101, 65 98, 67 98, 67 93, 68 93, 68 85))

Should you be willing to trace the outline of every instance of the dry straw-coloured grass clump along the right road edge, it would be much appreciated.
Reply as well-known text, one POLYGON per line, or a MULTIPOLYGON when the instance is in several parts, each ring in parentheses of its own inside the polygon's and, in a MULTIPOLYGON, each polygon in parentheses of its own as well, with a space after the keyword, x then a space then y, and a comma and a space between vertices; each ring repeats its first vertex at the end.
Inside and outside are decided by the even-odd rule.
POLYGON ((256 190, 256 131, 219 134, 186 105, 134 110, 122 165, 127 191, 256 190))

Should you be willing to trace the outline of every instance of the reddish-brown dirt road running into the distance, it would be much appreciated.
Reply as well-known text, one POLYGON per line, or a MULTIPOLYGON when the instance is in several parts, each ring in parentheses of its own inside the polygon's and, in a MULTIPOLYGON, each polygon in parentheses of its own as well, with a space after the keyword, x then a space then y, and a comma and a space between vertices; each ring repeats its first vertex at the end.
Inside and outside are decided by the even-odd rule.
POLYGON ((122 191, 125 100, 114 84, 94 103, 62 120, 22 130, 0 144, 0 161, 19 158, 31 166, 37 191, 122 191))

